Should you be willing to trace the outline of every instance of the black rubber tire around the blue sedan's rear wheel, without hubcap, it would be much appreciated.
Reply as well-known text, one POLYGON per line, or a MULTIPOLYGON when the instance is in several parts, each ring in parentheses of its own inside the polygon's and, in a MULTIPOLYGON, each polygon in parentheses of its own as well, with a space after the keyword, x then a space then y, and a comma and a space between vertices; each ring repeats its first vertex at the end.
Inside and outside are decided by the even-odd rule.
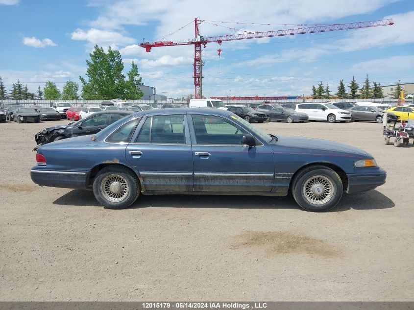
MULTIPOLYGON (((122 166, 108 166, 97 173, 93 184, 93 191, 97 201, 107 209, 126 209, 132 205, 138 198, 141 192, 141 185, 135 173, 131 172, 126 167, 122 166), (107 182, 107 178, 111 176, 119 177, 124 184, 127 184, 128 191, 125 197, 119 202, 109 200, 107 195, 102 192, 103 182, 107 182)), ((113 192, 110 192, 113 194, 113 192)))

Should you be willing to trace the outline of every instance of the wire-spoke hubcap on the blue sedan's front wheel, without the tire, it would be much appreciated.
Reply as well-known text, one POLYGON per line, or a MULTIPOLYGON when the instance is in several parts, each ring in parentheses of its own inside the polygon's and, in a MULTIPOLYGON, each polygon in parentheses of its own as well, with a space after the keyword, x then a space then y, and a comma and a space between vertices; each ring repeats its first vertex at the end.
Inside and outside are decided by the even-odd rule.
POLYGON ((323 175, 312 176, 303 185, 303 194, 308 202, 322 205, 329 202, 334 196, 334 185, 323 175))

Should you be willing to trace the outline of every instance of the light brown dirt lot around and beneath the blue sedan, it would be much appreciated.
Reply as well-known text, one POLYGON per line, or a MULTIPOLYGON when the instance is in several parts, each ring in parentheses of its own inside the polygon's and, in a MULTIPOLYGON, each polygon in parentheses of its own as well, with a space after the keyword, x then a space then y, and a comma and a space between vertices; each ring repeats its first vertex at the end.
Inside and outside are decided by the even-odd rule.
POLYGON ((381 124, 258 125, 363 148, 387 170, 317 214, 292 196, 141 196, 116 211, 38 187, 33 135, 54 123, 0 124, 0 300, 414 300, 414 147, 384 145, 381 124))

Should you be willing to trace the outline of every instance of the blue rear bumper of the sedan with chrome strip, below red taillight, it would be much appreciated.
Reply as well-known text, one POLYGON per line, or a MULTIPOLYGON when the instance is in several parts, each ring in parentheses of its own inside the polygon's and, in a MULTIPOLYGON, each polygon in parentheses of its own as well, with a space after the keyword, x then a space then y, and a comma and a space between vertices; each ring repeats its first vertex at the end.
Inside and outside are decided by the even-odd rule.
POLYGON ((65 189, 86 189, 87 171, 48 170, 35 166, 30 170, 30 178, 40 186, 65 189))

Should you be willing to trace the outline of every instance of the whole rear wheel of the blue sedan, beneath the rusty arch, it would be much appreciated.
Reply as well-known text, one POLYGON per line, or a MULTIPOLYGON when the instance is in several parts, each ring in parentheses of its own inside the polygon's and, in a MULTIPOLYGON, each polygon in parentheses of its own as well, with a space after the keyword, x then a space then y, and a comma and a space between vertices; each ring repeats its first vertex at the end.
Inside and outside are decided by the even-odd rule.
POLYGON ((137 200, 141 186, 135 173, 125 167, 108 166, 95 177, 97 201, 108 209, 125 209, 137 200))

